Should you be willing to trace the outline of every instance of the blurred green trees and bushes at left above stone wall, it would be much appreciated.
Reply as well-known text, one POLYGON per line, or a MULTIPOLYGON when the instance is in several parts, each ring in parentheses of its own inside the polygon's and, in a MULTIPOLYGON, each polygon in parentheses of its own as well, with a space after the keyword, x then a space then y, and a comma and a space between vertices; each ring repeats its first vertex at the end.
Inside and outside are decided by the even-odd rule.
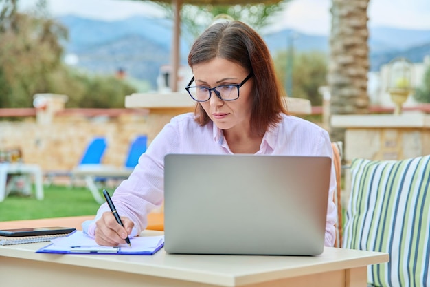
POLYGON ((67 29, 49 17, 46 2, 29 14, 17 0, 1 0, 0 107, 32 107, 37 93, 65 94, 67 107, 124 107, 135 92, 115 76, 89 75, 62 62, 67 29))

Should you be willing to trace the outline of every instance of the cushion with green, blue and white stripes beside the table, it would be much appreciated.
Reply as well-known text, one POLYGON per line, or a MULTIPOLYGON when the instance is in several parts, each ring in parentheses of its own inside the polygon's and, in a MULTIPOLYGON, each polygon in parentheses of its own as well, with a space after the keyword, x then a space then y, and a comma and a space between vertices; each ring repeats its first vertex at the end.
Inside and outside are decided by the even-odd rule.
POLYGON ((368 267, 375 286, 430 286, 430 156, 354 159, 343 248, 389 253, 368 267))

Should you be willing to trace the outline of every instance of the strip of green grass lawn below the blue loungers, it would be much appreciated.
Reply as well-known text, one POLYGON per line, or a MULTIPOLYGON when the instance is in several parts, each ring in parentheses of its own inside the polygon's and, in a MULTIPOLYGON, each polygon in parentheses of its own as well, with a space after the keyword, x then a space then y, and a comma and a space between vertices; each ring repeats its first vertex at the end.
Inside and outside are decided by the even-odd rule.
MULTIPOLYGON (((113 193, 113 190, 107 190, 113 193)), ((36 200, 34 192, 31 196, 9 195, 0 202, 0 222, 95 215, 100 206, 85 187, 50 186, 44 187, 44 193, 43 200, 36 200)))

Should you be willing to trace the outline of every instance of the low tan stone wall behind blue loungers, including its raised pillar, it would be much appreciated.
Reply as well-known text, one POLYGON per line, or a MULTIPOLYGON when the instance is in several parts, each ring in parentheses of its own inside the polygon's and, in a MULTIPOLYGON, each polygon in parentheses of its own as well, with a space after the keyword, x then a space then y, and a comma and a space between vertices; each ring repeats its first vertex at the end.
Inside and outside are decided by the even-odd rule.
POLYGON ((141 135, 148 145, 173 113, 148 109, 65 109, 67 96, 35 94, 36 118, 0 122, 0 150, 19 149, 27 164, 43 171, 69 171, 80 162, 93 138, 103 136, 103 164, 124 166, 131 142, 141 135))

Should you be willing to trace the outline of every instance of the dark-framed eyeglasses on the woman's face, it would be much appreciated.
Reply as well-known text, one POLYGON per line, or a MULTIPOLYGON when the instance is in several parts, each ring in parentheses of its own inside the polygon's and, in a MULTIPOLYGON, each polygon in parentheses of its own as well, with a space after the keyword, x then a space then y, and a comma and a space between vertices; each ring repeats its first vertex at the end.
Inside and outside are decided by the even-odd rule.
POLYGON ((194 76, 192 77, 188 86, 185 87, 188 94, 190 94, 193 100, 197 102, 207 102, 210 100, 212 96, 212 91, 216 94, 218 98, 221 100, 237 100, 239 98, 239 88, 242 87, 249 78, 253 76, 253 72, 249 73, 249 75, 243 80, 240 84, 232 84, 232 85, 219 85, 216 87, 190 87, 191 83, 194 82, 194 76))

